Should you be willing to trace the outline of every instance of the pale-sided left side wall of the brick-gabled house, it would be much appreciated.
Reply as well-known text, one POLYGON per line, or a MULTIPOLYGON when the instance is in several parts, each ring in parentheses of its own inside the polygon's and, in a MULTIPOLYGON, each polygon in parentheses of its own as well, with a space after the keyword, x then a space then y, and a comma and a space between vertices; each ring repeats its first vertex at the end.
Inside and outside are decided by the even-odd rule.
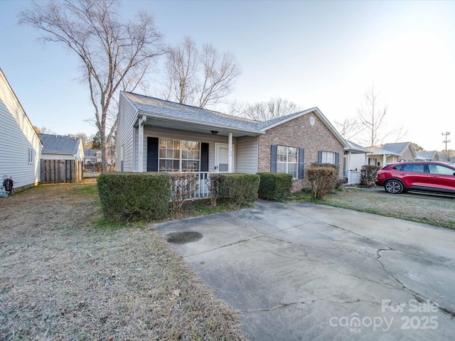
POLYGON ((118 138, 115 141, 115 148, 117 151, 123 151, 123 153, 116 154, 115 169, 116 171, 121 170, 121 158, 124 156, 123 171, 132 172, 134 171, 134 124, 137 121, 138 111, 123 94, 120 94, 120 112, 122 112, 122 115, 119 115, 119 124, 117 126, 118 138))

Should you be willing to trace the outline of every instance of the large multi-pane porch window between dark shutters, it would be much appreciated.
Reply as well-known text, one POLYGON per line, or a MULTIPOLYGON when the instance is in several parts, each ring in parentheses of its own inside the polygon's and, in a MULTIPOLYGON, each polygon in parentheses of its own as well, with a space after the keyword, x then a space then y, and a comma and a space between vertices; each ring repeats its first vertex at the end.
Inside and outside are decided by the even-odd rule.
POLYGON ((199 161, 199 142, 159 139, 160 172, 198 172, 199 161))

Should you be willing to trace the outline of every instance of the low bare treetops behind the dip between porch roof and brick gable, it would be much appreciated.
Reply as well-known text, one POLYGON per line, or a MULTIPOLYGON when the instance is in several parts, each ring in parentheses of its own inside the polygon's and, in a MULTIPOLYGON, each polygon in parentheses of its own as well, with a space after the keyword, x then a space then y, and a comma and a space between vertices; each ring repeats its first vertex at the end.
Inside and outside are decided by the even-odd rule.
POLYGON ((229 112, 232 115, 253 119, 255 121, 268 121, 276 119, 294 112, 298 112, 300 107, 288 99, 271 98, 267 102, 249 103, 230 103, 229 112))

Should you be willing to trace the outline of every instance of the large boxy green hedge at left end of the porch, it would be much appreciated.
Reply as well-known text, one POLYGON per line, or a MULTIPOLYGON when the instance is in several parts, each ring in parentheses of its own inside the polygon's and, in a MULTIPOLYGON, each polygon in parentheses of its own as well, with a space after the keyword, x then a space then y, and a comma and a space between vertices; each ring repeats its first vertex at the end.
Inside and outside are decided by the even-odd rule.
POLYGON ((97 186, 106 220, 157 220, 168 213, 171 197, 168 173, 102 173, 97 186))

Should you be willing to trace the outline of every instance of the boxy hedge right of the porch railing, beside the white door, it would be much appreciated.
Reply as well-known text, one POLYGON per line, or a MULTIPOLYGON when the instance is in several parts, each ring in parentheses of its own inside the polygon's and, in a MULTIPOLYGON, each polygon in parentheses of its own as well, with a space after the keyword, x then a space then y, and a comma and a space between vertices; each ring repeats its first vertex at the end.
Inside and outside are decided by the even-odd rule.
POLYGON ((225 197, 237 205, 249 205, 257 200, 259 175, 243 173, 210 173, 210 195, 225 197))

